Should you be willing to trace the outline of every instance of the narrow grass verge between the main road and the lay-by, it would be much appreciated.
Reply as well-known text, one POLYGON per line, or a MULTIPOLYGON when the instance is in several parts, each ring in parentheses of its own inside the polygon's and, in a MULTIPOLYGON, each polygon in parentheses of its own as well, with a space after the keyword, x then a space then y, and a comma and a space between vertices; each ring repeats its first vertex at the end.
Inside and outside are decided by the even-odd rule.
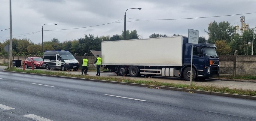
MULTIPOLYGON (((25 70, 18 68, 6 68, 6 71, 16 71, 16 72, 26 72, 26 73, 34 73, 34 74, 47 74, 47 75, 56 75, 56 76, 64 76, 64 77, 78 77, 85 79, 97 79, 97 80, 108 80, 108 81, 117 81, 117 82, 126 82, 126 83, 138 83, 152 86, 166 86, 166 87, 175 87, 182 89, 193 89, 193 90, 202 90, 209 92, 221 92, 221 93, 229 93, 229 94, 238 94, 238 95, 250 95, 256 96, 256 91, 254 90, 243 90, 243 89, 229 89, 228 87, 217 87, 217 86, 196 86, 186 85, 186 84, 175 84, 175 83, 162 83, 162 82, 154 82, 154 81, 145 81, 145 80, 131 80, 124 78, 116 78, 116 77, 98 77, 98 76, 83 76, 76 74, 67 74, 65 72, 50 72, 50 71, 40 71, 40 70, 25 70)), ((151 88, 151 87, 149 87, 151 88)), ((160 89, 160 88, 157 88, 160 89)))

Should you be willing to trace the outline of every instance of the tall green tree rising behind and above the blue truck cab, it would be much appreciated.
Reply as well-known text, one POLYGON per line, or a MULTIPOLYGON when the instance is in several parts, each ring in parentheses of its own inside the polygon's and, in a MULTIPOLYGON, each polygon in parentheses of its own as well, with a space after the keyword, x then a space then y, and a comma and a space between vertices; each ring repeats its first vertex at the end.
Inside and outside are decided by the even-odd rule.
POLYGON ((228 22, 220 22, 219 24, 215 21, 208 27, 209 43, 215 43, 217 40, 224 40, 226 42, 232 41, 236 34, 236 27, 230 26, 228 22))

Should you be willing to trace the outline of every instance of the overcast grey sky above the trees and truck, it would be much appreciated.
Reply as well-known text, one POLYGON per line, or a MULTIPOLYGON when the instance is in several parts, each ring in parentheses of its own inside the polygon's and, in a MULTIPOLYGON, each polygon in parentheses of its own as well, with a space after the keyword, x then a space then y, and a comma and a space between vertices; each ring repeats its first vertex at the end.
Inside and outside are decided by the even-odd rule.
MULTIPOLYGON (((126 30, 136 29, 140 38, 149 38, 153 33, 188 36, 188 29, 195 29, 199 30, 199 36, 208 39, 204 30, 209 22, 228 21, 241 27, 243 15, 249 28, 256 25, 256 14, 247 14, 256 12, 255 0, 12 0, 11 5, 12 37, 29 38, 34 44, 41 43, 42 25, 48 23, 58 25, 43 26, 44 41, 58 38, 63 42, 84 38, 85 34, 95 37, 120 35, 128 8, 142 8, 126 12, 126 30), (213 17, 233 14, 241 15, 213 17), (208 18, 183 19, 195 17, 208 18)), ((10 28, 9 6, 10 0, 0 0, 0 30, 10 28)), ((9 33, 9 30, 0 32, 1 43, 10 38, 9 33)))

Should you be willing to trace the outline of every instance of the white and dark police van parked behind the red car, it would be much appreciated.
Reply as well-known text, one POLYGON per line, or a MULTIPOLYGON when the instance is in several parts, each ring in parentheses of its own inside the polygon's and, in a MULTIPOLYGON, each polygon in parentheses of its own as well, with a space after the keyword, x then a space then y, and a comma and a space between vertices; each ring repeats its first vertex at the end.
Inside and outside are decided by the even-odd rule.
POLYGON ((45 51, 43 59, 43 67, 46 68, 46 70, 55 68, 61 71, 72 69, 77 71, 79 68, 78 60, 67 50, 45 51))

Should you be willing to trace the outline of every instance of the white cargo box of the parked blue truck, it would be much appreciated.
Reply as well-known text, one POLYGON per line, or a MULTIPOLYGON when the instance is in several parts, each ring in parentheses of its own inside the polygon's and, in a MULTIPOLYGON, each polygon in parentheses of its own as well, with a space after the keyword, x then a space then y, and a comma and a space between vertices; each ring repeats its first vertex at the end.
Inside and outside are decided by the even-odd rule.
POLYGON ((102 65, 182 66, 183 36, 103 41, 102 65))

